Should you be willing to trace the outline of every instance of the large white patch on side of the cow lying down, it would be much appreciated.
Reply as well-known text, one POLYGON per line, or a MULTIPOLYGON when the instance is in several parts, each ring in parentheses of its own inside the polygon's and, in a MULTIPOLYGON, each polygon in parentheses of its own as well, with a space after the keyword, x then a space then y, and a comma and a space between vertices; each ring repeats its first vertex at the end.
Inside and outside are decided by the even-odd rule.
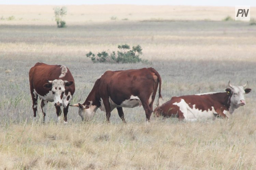
POLYGON ((181 99, 179 103, 175 102, 173 105, 177 105, 180 108, 180 111, 183 113, 183 116, 185 117, 185 120, 188 121, 195 121, 198 119, 215 119, 215 115, 217 114, 214 110, 214 107, 212 106, 212 110, 210 108, 208 111, 202 111, 196 108, 196 105, 193 105, 193 108, 190 108, 188 104, 184 101, 184 99, 181 99))

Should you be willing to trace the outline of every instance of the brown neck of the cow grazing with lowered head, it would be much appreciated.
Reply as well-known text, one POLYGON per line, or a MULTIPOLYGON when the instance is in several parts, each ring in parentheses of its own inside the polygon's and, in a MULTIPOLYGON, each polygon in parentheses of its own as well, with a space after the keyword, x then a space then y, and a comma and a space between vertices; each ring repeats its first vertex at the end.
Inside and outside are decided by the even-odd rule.
POLYGON ((96 105, 97 107, 100 107, 100 97, 98 95, 98 87, 99 87, 100 80, 98 79, 94 86, 93 89, 90 91, 89 95, 87 96, 85 102, 83 105, 89 106, 90 104, 96 105), (91 103, 92 102, 92 103, 91 103))

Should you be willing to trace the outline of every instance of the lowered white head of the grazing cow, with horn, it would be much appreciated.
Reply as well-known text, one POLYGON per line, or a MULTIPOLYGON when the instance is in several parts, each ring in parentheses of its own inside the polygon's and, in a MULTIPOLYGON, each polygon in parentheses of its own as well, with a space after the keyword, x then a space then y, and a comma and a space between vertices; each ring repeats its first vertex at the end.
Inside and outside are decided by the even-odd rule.
POLYGON ((91 120, 94 117, 95 112, 98 108, 96 105, 92 105, 92 102, 90 102, 89 105, 83 105, 83 104, 78 103, 78 104, 72 104, 70 106, 79 107, 78 114, 79 114, 79 116, 81 116, 82 121, 83 120, 85 120, 85 121, 91 120))

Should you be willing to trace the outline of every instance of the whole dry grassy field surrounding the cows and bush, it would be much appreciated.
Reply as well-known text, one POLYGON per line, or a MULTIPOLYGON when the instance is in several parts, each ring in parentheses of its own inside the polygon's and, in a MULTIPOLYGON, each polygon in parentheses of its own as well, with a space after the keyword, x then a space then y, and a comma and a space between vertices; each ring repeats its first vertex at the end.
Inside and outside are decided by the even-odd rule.
POLYGON ((256 27, 222 21, 233 17, 233 8, 68 6, 63 29, 56 28, 52 8, 0 5, 0 169, 256 168, 256 27), (14 19, 6 19, 10 16, 14 19), (92 64, 85 56, 117 51, 120 44, 141 45, 141 57, 149 62, 92 64), (44 124, 40 107, 38 121, 32 122, 28 71, 37 62, 70 69, 76 84, 72 103, 84 102, 106 70, 143 67, 161 75, 164 101, 224 91, 229 80, 233 85, 248 80, 252 91, 229 119, 184 122, 152 116, 145 123, 143 108, 136 107, 124 108, 127 124, 116 109, 109 124, 100 110, 85 123, 70 107, 69 123, 63 125, 55 123, 49 103, 44 124))

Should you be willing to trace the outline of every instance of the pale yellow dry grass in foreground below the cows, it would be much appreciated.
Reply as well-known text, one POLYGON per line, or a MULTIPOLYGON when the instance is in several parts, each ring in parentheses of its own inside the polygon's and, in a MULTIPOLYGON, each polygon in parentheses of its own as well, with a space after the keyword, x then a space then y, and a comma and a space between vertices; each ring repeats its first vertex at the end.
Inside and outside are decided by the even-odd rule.
POLYGON ((0 168, 254 169, 255 121, 247 110, 199 122, 56 125, 25 120, 2 125, 0 168))

